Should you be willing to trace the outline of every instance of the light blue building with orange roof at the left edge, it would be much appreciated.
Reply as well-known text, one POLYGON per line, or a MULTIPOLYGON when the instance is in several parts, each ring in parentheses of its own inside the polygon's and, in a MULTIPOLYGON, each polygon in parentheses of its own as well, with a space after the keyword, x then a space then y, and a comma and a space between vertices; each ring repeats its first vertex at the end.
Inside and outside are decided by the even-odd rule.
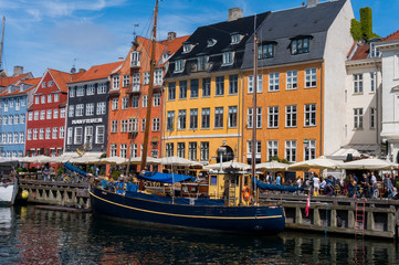
POLYGON ((18 81, 0 93, 0 156, 25 153, 27 112, 40 78, 18 81))

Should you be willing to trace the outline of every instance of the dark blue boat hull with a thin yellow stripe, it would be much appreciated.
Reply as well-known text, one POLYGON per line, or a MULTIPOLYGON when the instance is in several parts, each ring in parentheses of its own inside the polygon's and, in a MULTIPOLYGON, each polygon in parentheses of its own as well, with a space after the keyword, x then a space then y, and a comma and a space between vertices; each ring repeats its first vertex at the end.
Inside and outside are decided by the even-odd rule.
POLYGON ((171 204, 125 197, 95 187, 91 189, 95 213, 113 218, 166 225, 230 232, 277 234, 284 230, 285 218, 276 206, 222 206, 171 204))

